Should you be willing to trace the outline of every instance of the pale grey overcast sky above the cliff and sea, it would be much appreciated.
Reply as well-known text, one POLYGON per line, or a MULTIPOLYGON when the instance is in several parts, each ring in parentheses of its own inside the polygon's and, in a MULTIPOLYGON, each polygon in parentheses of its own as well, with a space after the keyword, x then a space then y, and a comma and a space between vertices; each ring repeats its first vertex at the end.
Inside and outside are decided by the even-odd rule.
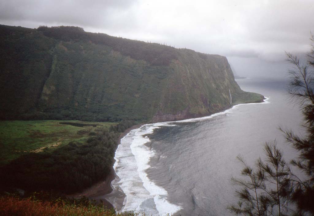
POLYGON ((2 0, 0 24, 80 26, 223 55, 239 75, 280 77, 284 51, 310 49, 314 0, 2 0))

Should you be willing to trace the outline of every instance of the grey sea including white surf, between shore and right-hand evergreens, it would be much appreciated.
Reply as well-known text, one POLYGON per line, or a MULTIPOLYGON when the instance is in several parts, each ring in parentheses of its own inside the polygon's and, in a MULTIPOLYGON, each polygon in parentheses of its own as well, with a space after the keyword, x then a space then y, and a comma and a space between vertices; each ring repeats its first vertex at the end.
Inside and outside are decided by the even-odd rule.
POLYGON ((295 151, 278 127, 302 132, 299 108, 286 97, 286 80, 238 79, 241 89, 268 98, 236 105, 209 117, 144 125, 122 139, 114 165, 114 191, 106 198, 122 211, 148 214, 232 215, 230 177, 239 176, 242 154, 249 164, 263 158, 263 144, 276 139, 289 161, 295 151))

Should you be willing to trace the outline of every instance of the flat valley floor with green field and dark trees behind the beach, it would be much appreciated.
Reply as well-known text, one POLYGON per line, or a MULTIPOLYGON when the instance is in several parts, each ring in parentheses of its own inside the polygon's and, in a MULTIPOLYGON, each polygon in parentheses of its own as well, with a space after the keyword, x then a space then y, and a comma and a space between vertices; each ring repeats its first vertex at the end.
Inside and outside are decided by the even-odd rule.
POLYGON ((76 126, 58 126, 54 121, 1 123, 8 128, 1 138, 0 156, 4 160, 0 164, 0 192, 20 188, 27 193, 43 190, 68 194, 106 179, 113 166, 119 135, 135 124, 130 121, 119 124, 61 122, 76 126), (46 140, 34 137, 34 132, 46 136, 46 140), (64 143, 51 146, 49 140, 57 138, 63 138, 64 143), (24 145, 20 139, 25 139, 24 145))

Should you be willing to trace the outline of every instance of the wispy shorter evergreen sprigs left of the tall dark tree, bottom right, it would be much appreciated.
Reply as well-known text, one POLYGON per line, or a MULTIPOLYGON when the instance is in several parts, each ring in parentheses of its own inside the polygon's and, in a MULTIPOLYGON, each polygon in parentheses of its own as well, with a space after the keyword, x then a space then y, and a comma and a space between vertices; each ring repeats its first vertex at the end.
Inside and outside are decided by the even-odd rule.
POLYGON ((292 211, 289 208, 291 200, 283 188, 293 174, 275 142, 266 143, 264 151, 266 160, 257 159, 255 167, 247 165, 243 157, 237 157, 243 165, 241 176, 245 178, 231 178, 241 189, 236 190, 239 202, 228 207, 237 215, 280 216, 292 211))

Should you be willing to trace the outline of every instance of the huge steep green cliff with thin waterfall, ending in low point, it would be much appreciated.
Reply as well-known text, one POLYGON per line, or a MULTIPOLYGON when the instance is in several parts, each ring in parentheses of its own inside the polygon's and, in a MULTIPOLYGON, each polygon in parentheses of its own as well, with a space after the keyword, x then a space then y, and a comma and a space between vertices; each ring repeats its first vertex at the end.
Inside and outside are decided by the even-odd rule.
POLYGON ((0 87, 1 119, 158 122, 263 99, 223 56, 63 26, 0 25, 0 87))

